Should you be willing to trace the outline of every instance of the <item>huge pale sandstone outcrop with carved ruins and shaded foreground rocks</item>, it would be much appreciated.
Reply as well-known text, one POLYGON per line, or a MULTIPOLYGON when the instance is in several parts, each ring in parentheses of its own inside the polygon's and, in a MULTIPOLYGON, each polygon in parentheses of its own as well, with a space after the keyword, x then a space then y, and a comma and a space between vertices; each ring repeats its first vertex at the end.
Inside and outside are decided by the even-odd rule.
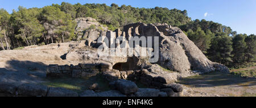
MULTIPOLYGON (((132 23, 124 26, 123 30, 113 32, 92 18, 79 18, 76 22, 77 39, 82 41, 0 51, 0 92, 49 97, 180 96, 186 90, 182 85, 174 83, 179 78, 212 71, 229 72, 224 65, 208 60, 180 28, 168 24, 132 23), (112 39, 121 36, 127 40, 122 42, 125 44, 134 36, 152 36, 153 40, 157 37, 159 43, 152 43, 152 48, 148 50, 156 51, 154 45, 159 45, 158 62, 150 63, 151 58, 148 56, 129 56, 127 53, 119 53, 122 56, 99 54, 98 47, 106 45, 98 43, 101 36, 109 39, 109 52, 116 51, 121 44, 112 43, 112 39), (114 48, 110 47, 112 45, 114 48), (100 93, 86 90, 78 94, 64 88, 40 85, 46 77, 82 78, 96 74, 102 74, 114 90, 100 93), (134 82, 146 85, 148 89, 138 88, 134 82)), ((125 48, 129 47, 134 46, 126 45, 125 48)), ((138 47, 142 49, 143 45, 139 44, 138 47)))

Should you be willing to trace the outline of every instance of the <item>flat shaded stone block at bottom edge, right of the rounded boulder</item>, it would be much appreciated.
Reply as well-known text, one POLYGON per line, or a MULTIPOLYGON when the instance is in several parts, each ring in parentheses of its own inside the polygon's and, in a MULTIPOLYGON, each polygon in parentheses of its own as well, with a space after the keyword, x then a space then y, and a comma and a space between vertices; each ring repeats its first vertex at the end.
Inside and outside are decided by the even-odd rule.
POLYGON ((159 90, 157 89, 139 89, 138 92, 135 93, 136 97, 158 97, 159 90))

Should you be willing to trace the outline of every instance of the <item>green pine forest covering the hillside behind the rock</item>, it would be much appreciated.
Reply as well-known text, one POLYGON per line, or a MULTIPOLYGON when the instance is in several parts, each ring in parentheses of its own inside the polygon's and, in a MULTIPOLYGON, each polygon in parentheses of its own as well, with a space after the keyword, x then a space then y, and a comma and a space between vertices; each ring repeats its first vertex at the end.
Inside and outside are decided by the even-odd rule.
POLYGON ((107 6, 63 2, 40 9, 19 6, 11 14, 0 9, 0 50, 76 40, 74 20, 81 17, 95 18, 109 30, 135 22, 167 23, 180 27, 214 62, 231 67, 255 60, 255 35, 237 34, 230 27, 204 19, 191 20, 186 10, 119 7, 114 3, 107 6))

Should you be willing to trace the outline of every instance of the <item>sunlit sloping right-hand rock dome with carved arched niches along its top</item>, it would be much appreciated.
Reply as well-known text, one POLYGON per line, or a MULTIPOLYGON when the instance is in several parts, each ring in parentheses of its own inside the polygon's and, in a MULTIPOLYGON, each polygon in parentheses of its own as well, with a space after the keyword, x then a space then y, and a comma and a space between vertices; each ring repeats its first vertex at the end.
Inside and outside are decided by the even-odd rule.
POLYGON ((158 36, 159 60, 158 64, 170 70, 181 73, 183 77, 196 72, 207 73, 214 70, 228 72, 221 65, 208 60, 199 48, 177 27, 168 24, 133 23, 123 27, 126 38, 129 36, 158 36), (222 68, 220 68, 222 67, 222 68))

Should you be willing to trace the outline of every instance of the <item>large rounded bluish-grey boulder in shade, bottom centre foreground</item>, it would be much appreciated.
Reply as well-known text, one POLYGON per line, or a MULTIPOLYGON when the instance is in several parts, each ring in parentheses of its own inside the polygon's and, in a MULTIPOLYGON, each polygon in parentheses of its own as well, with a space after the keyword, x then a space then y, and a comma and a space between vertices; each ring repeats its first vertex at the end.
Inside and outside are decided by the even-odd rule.
POLYGON ((119 90, 123 94, 132 94, 138 91, 138 86, 128 80, 114 81, 115 89, 119 90))

